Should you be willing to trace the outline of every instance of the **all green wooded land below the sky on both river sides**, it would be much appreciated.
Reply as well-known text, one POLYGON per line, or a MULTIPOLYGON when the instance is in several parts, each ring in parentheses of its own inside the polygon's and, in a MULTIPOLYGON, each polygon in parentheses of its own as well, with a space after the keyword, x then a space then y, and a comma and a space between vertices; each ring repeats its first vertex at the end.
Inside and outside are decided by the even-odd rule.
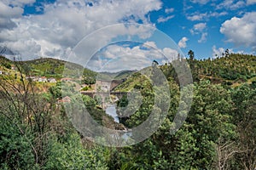
MULTIPOLYGON (((24 65, 0 59, 0 68, 8 71, 11 65, 24 65)), ((73 127, 60 101, 60 82, 48 92, 37 94, 32 82, 21 79, 22 83, 16 83, 10 77, 0 75, 0 168, 254 170, 256 56, 227 54, 222 58, 203 60, 190 56, 187 61, 194 78, 194 96, 188 115, 183 115, 183 112, 178 115, 187 116, 183 126, 177 133, 170 132, 175 126, 172 122, 181 95, 177 74, 171 64, 156 65, 166 76, 170 88, 167 116, 148 139, 123 148, 93 143, 73 127)), ((25 63, 30 65, 28 72, 33 74, 61 77, 63 62, 38 59, 25 63)), ((26 74, 22 71, 17 74, 26 74)), ((94 83, 95 72, 87 72, 84 81, 94 83)), ((72 91, 73 84, 67 88, 72 91)), ((132 73, 115 88, 126 92, 131 89, 142 94, 142 105, 133 115, 122 117, 120 123, 113 122, 113 118, 97 105, 96 99, 89 96, 82 99, 96 122, 111 129, 137 127, 151 111, 161 114, 160 107, 153 107, 155 88, 147 77, 132 73)), ((69 99, 74 110, 79 110, 76 106, 81 105, 77 103, 78 99, 79 94, 69 99)), ((124 96, 118 101, 118 111, 129 104, 131 107, 137 105, 124 96)), ((183 104, 183 109, 186 106, 183 104)))

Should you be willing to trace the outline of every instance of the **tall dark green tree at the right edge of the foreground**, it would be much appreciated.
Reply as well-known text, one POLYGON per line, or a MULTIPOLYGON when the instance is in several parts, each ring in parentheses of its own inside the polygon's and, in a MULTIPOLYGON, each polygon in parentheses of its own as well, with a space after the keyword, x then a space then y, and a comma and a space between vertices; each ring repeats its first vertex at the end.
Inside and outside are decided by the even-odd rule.
POLYGON ((256 90, 248 84, 232 90, 232 99, 235 103, 234 120, 237 124, 236 162, 243 169, 256 167, 256 90))

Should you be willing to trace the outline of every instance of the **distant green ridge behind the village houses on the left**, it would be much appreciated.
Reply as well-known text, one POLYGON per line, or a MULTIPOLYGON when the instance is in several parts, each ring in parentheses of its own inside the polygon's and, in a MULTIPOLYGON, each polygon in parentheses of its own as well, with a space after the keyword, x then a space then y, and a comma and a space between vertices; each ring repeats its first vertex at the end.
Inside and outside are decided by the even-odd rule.
MULTIPOLYGON (((56 79, 61 79, 63 76, 64 69, 71 76, 76 76, 77 72, 74 68, 79 68, 79 70, 84 69, 83 77, 84 83, 95 83, 96 79, 101 80, 122 80, 126 77, 129 77, 135 71, 119 71, 119 72, 100 72, 90 71, 87 68, 84 68, 82 65, 71 63, 61 59, 53 58, 39 58, 39 59, 30 59, 30 60, 15 60, 18 64, 26 67, 26 70, 29 71, 29 74, 32 76, 41 76, 41 77, 55 77, 56 79)), ((15 65, 15 61, 6 58, 5 56, 0 55, 0 63, 15 65)))

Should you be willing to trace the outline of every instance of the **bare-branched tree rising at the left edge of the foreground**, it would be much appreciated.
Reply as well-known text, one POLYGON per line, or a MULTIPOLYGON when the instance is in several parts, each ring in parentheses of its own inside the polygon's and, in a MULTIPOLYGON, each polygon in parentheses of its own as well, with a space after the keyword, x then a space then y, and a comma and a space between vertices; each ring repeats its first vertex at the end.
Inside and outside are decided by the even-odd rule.
POLYGON ((35 167, 44 164, 46 132, 50 126, 54 105, 44 99, 44 95, 35 93, 34 84, 26 80, 25 77, 29 74, 20 62, 15 62, 15 67, 15 76, 5 75, 0 81, 0 116, 3 126, 3 131, 0 132, 3 137, 0 141, 0 152, 16 160, 6 159, 1 164, 9 168, 33 168, 32 164, 35 167), (4 129, 9 130, 4 132, 4 129), (26 163, 28 167, 24 165, 26 163))

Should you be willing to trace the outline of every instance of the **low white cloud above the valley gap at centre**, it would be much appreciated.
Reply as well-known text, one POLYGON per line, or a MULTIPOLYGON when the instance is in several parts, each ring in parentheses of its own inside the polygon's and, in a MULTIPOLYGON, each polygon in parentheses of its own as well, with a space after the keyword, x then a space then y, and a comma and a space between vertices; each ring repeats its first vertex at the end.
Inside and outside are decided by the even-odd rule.
POLYGON ((144 42, 136 46, 110 44, 96 53, 87 64, 93 71, 141 70, 158 60, 160 64, 177 58, 177 50, 157 48, 155 42, 144 42))

